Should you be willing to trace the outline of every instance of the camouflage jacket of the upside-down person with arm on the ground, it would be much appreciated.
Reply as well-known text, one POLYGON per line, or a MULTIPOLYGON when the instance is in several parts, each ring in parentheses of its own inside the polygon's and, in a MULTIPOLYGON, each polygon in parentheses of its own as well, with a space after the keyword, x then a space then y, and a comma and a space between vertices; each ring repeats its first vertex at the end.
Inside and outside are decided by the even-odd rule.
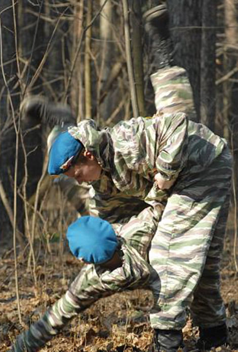
POLYGON ((29 330, 17 337, 14 352, 35 352, 51 340, 78 313, 99 298, 135 288, 160 290, 158 275, 146 260, 127 242, 118 237, 123 265, 109 271, 93 264, 83 267, 62 296, 29 330))

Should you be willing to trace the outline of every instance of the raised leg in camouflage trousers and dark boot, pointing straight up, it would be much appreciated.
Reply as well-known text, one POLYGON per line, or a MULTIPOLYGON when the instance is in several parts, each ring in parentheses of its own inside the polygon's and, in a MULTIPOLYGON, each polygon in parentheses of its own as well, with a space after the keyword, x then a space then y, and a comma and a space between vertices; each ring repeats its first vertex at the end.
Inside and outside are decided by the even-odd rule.
POLYGON ((190 120, 196 120, 188 75, 183 67, 176 65, 176 50, 170 38, 166 4, 157 1, 153 5, 143 18, 145 31, 151 41, 154 73, 150 79, 157 114, 184 112, 190 120))

